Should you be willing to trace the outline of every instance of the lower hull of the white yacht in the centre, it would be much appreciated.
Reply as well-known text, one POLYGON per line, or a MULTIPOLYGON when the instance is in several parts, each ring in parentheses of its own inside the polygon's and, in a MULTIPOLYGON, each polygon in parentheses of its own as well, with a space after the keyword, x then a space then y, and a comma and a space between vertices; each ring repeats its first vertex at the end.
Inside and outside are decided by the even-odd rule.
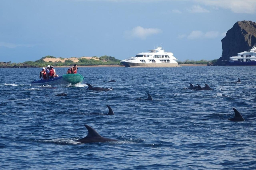
POLYGON ((178 63, 132 63, 121 61, 125 67, 179 67, 178 63))

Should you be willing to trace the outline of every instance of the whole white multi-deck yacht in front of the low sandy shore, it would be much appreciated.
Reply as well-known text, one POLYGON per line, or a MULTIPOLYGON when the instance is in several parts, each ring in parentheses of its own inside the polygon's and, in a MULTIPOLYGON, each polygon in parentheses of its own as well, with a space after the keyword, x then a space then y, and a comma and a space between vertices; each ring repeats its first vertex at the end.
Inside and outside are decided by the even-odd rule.
POLYGON ((179 67, 172 52, 165 52, 162 47, 150 49, 120 61, 125 67, 179 67))

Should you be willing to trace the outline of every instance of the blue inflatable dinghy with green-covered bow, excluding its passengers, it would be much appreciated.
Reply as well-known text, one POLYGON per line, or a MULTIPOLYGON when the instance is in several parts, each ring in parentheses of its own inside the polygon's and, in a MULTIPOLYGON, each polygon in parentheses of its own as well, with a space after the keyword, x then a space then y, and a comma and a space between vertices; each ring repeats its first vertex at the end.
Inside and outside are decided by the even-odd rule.
POLYGON ((47 80, 34 80, 31 82, 31 86, 46 86, 46 85, 63 85, 63 86, 79 86, 84 77, 80 74, 64 74, 63 76, 54 77, 47 80))

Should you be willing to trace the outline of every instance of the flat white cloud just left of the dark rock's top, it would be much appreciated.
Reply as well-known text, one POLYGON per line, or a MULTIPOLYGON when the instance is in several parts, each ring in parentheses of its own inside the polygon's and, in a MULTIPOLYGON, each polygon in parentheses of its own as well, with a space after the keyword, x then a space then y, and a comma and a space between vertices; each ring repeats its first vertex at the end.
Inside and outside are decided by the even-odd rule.
POLYGON ((191 40, 192 39, 214 39, 219 36, 223 36, 223 33, 220 34, 218 31, 208 31, 206 33, 202 31, 192 31, 187 38, 191 40))

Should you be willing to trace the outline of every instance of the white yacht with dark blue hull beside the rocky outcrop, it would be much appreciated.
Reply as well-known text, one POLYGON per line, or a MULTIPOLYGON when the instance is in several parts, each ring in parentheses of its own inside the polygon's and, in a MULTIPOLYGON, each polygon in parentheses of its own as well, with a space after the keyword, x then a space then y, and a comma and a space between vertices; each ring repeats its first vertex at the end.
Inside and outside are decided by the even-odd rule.
POLYGON ((256 65, 256 46, 249 51, 239 52, 237 56, 229 57, 229 60, 222 60, 228 66, 255 66, 256 65))

